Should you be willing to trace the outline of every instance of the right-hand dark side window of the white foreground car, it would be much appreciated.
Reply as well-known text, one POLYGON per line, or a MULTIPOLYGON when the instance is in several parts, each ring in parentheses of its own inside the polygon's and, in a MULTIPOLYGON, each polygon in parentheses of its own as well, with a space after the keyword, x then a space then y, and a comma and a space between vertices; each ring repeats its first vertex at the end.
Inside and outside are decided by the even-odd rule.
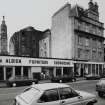
POLYGON ((61 100, 68 99, 68 98, 73 98, 73 97, 77 97, 78 96, 77 92, 75 92, 73 89, 71 89, 69 87, 67 87, 67 88, 60 88, 59 89, 59 93, 60 93, 61 100))

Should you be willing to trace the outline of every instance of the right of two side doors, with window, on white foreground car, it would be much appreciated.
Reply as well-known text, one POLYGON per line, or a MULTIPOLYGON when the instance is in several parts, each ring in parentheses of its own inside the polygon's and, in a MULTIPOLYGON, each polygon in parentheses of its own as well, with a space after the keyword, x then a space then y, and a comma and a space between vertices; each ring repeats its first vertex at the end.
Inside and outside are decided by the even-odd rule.
POLYGON ((83 105, 82 96, 69 87, 60 88, 59 94, 60 105, 83 105))

